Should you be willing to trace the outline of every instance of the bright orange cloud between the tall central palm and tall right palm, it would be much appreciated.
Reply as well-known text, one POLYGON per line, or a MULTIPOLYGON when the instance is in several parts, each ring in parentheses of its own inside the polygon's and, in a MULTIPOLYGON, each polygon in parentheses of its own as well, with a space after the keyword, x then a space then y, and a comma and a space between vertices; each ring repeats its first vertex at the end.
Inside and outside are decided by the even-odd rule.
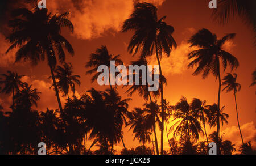
MULTIPOLYGON (((195 48, 190 48, 187 42, 182 41, 176 49, 172 50, 170 57, 163 55, 161 60, 163 74, 180 74, 187 70, 189 62, 187 55, 192 52, 192 50, 195 50, 195 48)), ((158 65, 155 55, 151 56, 148 60, 149 65, 158 65)))

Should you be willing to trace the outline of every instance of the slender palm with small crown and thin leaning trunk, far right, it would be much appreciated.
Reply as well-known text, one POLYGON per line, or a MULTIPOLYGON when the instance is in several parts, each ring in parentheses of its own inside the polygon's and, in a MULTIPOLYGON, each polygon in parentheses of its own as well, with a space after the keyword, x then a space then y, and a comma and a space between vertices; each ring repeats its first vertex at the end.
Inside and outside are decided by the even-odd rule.
POLYGON ((238 129, 240 131, 241 139, 242 139, 242 144, 243 144, 243 137, 239 125, 239 119, 238 119, 238 111, 237 111, 237 97, 236 93, 241 90, 241 85, 240 83, 237 83, 237 74, 234 73, 233 75, 228 73, 222 82, 222 86, 225 86, 222 91, 226 90, 226 92, 233 91, 234 92, 234 100, 236 104, 236 112, 237 112, 237 124, 238 124, 238 129))

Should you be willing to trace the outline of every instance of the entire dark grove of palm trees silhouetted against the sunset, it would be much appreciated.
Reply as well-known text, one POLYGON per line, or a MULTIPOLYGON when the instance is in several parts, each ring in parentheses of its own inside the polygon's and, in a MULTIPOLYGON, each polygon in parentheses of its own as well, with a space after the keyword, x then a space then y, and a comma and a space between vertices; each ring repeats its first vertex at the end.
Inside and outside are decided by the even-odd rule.
MULTIPOLYGON (((27 2, 36 4, 34 0, 27 2)), ((235 12, 248 18, 252 11, 248 3, 242 5, 241 2, 220 1, 220 9, 214 11, 216 18, 226 22, 230 14, 234 16, 235 12), (229 10, 224 12, 226 7, 229 10)), ((230 73, 221 83, 220 71, 223 68, 225 73, 228 65, 232 71, 239 66, 236 57, 222 49, 225 42, 233 39, 235 34, 218 39, 204 28, 188 40, 191 47, 199 48, 188 55, 191 59, 188 67, 196 67, 193 75, 201 73, 204 79, 212 73, 219 81, 217 104, 207 105, 206 100, 197 98, 189 103, 182 97, 175 105, 170 105, 164 98, 163 85, 167 84, 167 79, 163 76, 160 61, 163 54, 169 57, 172 48, 177 46, 172 37, 174 28, 164 22, 166 16, 158 18, 158 10, 151 3, 135 3, 134 7, 133 13, 122 25, 122 32, 134 31, 128 46, 130 54, 140 54, 139 59, 132 61, 131 65, 147 66, 148 58, 154 53, 159 65, 158 91, 149 92, 148 84, 123 86, 127 88, 129 96, 138 93, 144 99, 143 106, 136 108, 129 108, 131 99, 123 99, 111 84, 105 91, 90 88, 81 96, 75 96, 76 85, 81 84, 80 76, 73 74, 71 63, 65 62, 64 48, 71 55, 74 51, 67 39, 61 36, 61 28, 67 27, 71 32, 74 29, 68 19, 68 12, 51 15, 46 9, 39 10, 37 7, 33 11, 18 9, 13 12, 14 19, 9 23, 12 32, 7 36, 11 46, 7 52, 19 48, 15 54, 16 62, 30 61, 32 65, 47 58, 51 70, 49 78, 53 80, 52 87, 55 89, 59 109, 36 110, 40 94, 44 92, 23 82, 24 75, 13 71, 0 75, 0 92, 10 95, 13 100, 10 112, 8 105, 0 103, 0 154, 38 154, 39 142, 46 143, 47 155, 208 155, 210 142, 217 144, 218 154, 231 155, 236 152, 234 144, 229 140, 223 141, 220 134, 221 126, 228 124, 229 117, 224 113, 225 107, 220 107, 221 86, 224 86, 223 91, 234 92, 238 121, 236 93, 240 91, 241 85, 236 82, 237 75, 230 73), (58 62, 60 65, 57 65, 58 62), (67 96, 63 105, 59 91, 67 96), (167 124, 170 122, 171 127, 168 129, 167 124), (164 124, 170 146, 167 150, 163 149, 164 124), (217 131, 207 135, 207 126, 217 126, 217 131), (124 127, 133 132, 139 146, 125 146, 124 127), (123 149, 118 152, 115 147, 120 143, 123 149)), ((109 53, 107 46, 101 46, 90 54, 85 67, 89 68, 86 74, 93 74, 92 82, 101 74, 97 72, 98 67, 106 65, 110 69, 110 61, 115 61, 115 66, 123 64, 119 55, 109 53)), ((155 72, 158 73, 156 69, 150 72, 152 77, 155 72)), ((129 76, 139 76, 139 81, 143 80, 141 73, 129 76)), ((255 84, 255 72, 253 76, 251 86, 255 84)), ((110 70, 108 79, 110 82, 110 70)), ((239 121, 238 128, 242 139, 238 154, 255 155, 251 141, 243 142, 239 121)))

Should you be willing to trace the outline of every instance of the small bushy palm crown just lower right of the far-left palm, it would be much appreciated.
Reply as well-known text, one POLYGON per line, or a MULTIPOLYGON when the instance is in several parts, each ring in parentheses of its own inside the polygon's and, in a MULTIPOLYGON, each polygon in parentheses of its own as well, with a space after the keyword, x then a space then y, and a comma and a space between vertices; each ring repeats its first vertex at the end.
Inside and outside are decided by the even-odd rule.
POLYGON ((14 105, 31 109, 33 105, 38 106, 37 101, 40 100, 38 90, 24 83, 24 87, 14 96, 14 105))

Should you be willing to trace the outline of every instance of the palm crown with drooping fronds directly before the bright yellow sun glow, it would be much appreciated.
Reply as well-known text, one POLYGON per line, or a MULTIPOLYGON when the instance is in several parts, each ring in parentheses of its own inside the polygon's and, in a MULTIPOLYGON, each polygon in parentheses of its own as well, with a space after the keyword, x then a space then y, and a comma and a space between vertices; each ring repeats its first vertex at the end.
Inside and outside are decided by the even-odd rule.
POLYGON ((191 106, 185 97, 182 97, 175 105, 175 112, 172 113, 172 116, 174 116, 174 121, 177 121, 170 127, 169 132, 174 130, 176 126, 174 130, 175 138, 177 135, 180 135, 181 140, 190 141, 192 136, 197 141, 199 139, 199 133, 204 134, 200 122, 193 116, 191 106))

